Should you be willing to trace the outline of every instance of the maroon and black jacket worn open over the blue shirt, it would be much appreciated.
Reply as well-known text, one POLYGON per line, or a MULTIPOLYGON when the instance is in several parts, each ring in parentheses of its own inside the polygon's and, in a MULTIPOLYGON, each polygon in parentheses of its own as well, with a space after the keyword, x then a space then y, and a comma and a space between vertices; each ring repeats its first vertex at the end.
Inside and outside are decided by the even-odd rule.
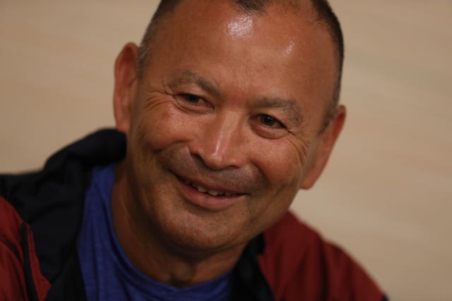
MULTIPOLYGON (((42 171, 0 176, 0 300, 85 300, 76 253, 94 166, 125 154, 125 137, 101 130, 42 171)), ((338 247, 287 212, 249 242, 233 271, 232 300, 386 300, 338 247)))

